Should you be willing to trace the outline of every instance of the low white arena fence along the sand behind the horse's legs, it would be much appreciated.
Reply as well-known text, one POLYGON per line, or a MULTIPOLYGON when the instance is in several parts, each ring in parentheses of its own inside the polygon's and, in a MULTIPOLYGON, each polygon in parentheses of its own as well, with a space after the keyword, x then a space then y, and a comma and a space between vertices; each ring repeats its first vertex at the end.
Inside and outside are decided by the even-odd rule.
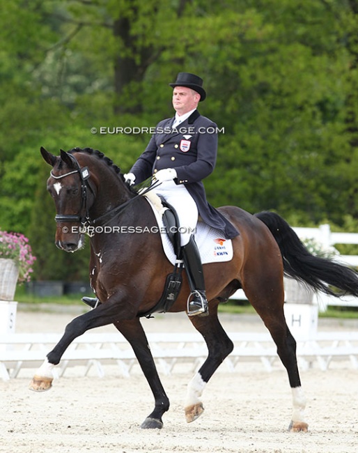
MULTIPOLYGON (((244 362, 253 361, 263 364, 267 371, 272 371, 274 362, 283 369, 268 332, 235 332, 228 336, 235 346, 223 364, 227 371, 244 370, 244 362)), ((37 369, 60 337, 58 334, 0 335, 0 377, 8 381, 22 377, 20 371, 24 368, 37 369)), ((203 337, 197 332, 150 333, 148 342, 159 372, 166 375, 183 363, 189 363, 192 371, 197 371, 208 355, 203 337)), ((348 361, 353 369, 358 369, 358 332, 316 332, 311 337, 297 338, 297 358, 301 369, 316 365, 327 370, 333 360, 348 361)), ((77 365, 81 376, 94 368, 102 377, 108 364, 116 365, 121 375, 129 377, 137 358, 119 333, 87 332, 73 341, 54 373, 55 377, 63 376, 68 367, 77 365)))

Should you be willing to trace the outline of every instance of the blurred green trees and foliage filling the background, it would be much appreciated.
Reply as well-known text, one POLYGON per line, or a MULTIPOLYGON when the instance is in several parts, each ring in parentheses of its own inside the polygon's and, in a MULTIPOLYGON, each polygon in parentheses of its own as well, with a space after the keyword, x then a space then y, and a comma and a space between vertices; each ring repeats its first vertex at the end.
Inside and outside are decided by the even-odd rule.
POLYGON ((200 111, 224 128, 215 173, 205 181, 213 205, 357 231, 355 2, 0 6, 0 227, 30 236, 38 278, 77 278, 88 257, 88 249, 65 254, 53 245, 40 146, 54 154, 98 148, 127 171, 150 137, 115 128, 171 116, 168 84, 181 70, 203 76, 208 99, 200 111))

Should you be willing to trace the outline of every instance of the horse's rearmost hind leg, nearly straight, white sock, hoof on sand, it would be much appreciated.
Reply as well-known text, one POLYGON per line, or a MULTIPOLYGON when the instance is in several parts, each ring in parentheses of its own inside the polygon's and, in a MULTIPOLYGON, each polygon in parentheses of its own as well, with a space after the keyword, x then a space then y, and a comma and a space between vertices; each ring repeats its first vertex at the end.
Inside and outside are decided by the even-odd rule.
POLYGON ((277 295, 277 298, 274 298, 273 294, 270 294, 270 298, 267 298, 267 296, 261 299, 255 298, 254 300, 260 300, 260 303, 253 305, 270 331, 272 339, 277 346, 277 354, 288 373, 288 380, 293 394, 293 415, 288 429, 290 431, 307 431, 308 424, 304 420, 306 399, 299 378, 296 341, 288 329, 283 313, 283 289, 280 293, 281 295, 277 295), (263 301, 265 302, 263 303, 263 301))

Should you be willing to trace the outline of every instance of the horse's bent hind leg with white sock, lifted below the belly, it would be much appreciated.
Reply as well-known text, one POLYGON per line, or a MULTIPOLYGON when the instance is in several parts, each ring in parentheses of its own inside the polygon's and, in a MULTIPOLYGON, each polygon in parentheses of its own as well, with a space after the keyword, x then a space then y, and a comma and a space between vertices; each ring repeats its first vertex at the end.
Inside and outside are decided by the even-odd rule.
POLYGON ((203 413, 204 408, 200 398, 205 385, 223 360, 233 351, 233 342, 226 335, 217 318, 217 307, 210 306, 209 316, 193 316, 190 321, 205 339, 208 358, 187 387, 185 417, 188 423, 194 422, 203 413))

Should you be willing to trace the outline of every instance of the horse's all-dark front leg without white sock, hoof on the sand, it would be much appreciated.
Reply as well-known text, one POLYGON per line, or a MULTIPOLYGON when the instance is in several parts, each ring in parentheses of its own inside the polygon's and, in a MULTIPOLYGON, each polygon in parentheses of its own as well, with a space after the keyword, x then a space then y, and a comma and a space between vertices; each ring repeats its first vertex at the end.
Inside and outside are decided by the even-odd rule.
POLYGON ((127 341, 130 342, 155 399, 155 408, 141 424, 141 428, 162 429, 162 415, 169 410, 169 399, 166 396, 162 383, 160 382, 153 355, 150 352, 148 340, 139 318, 135 318, 130 321, 116 321, 114 325, 123 334, 127 341))

